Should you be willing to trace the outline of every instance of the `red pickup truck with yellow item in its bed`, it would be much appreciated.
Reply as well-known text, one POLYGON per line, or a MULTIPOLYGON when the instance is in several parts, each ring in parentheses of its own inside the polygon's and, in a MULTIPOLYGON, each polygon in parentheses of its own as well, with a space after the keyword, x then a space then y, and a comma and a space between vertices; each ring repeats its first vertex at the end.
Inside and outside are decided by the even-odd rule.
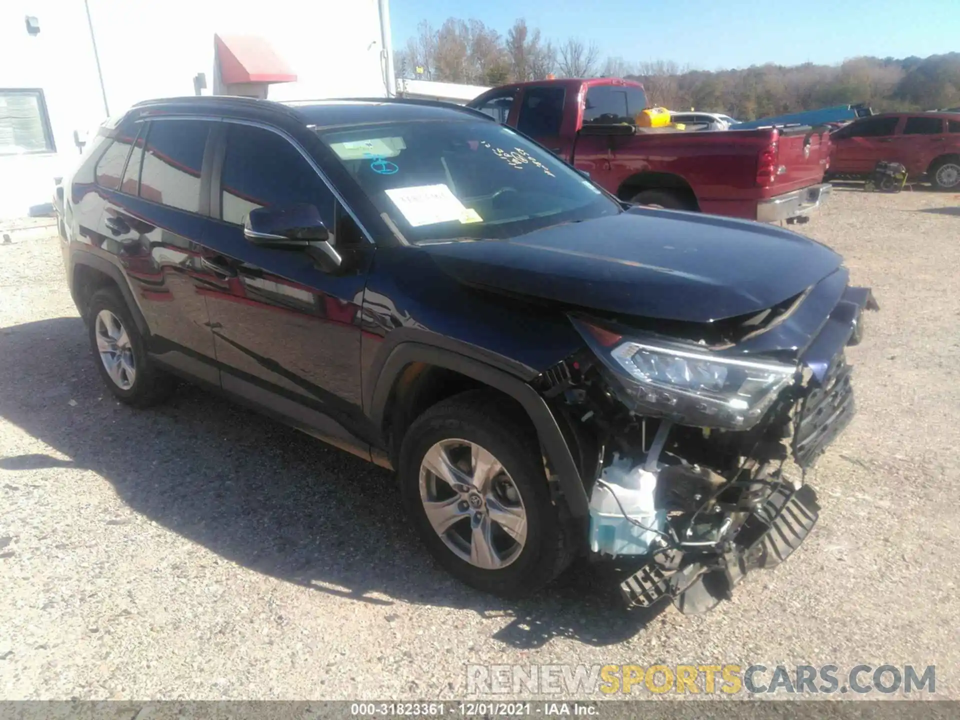
POLYGON ((643 85, 614 78, 501 85, 468 103, 564 157, 621 200, 792 221, 830 191, 826 129, 643 129, 643 85))

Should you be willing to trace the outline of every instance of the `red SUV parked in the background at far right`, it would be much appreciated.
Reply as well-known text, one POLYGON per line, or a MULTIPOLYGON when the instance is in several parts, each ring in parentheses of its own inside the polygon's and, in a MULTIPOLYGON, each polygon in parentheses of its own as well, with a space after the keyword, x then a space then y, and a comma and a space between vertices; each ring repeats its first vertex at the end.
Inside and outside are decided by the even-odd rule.
POLYGON ((854 120, 830 134, 830 175, 867 175, 880 160, 900 162, 912 178, 960 188, 960 113, 891 112, 854 120))

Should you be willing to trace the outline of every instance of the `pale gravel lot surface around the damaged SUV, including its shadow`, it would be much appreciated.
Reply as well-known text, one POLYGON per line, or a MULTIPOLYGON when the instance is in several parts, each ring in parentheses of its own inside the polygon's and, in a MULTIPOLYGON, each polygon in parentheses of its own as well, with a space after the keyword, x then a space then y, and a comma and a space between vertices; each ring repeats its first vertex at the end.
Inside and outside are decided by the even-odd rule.
MULTIPOLYGON (((463 588, 391 476, 215 396, 113 401, 58 241, 0 246, 0 697, 456 698, 466 663, 937 665, 960 698, 960 196, 840 189, 803 231, 881 312, 860 412, 786 564, 703 616, 617 610, 588 572, 463 588)), ((847 696, 851 697, 851 696, 847 696)), ((874 693, 873 697, 876 697, 874 693)))

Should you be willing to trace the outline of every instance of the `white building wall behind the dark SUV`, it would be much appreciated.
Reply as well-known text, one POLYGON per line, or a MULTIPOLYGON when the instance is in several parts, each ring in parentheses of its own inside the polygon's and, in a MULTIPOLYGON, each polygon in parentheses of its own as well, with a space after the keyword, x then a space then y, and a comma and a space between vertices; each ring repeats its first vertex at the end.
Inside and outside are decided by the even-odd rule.
MULTIPOLYGON (((109 111, 141 100, 193 95, 214 77, 214 34, 265 38, 298 76, 270 86, 271 100, 383 97, 376 0, 88 0, 109 111)), ((0 156, 0 217, 49 202, 53 178, 79 157, 73 132, 106 117, 83 0, 0 2, 0 88, 44 90, 57 154, 0 156), (24 18, 36 16, 38 36, 24 18)))

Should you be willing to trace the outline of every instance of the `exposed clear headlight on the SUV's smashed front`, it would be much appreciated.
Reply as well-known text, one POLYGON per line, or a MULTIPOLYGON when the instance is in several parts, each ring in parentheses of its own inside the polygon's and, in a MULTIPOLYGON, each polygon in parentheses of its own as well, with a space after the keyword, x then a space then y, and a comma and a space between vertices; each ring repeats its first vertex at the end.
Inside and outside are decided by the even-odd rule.
POLYGON ((612 371, 622 399, 641 415, 748 430, 797 374, 794 365, 653 345, 580 320, 573 323, 612 371))

